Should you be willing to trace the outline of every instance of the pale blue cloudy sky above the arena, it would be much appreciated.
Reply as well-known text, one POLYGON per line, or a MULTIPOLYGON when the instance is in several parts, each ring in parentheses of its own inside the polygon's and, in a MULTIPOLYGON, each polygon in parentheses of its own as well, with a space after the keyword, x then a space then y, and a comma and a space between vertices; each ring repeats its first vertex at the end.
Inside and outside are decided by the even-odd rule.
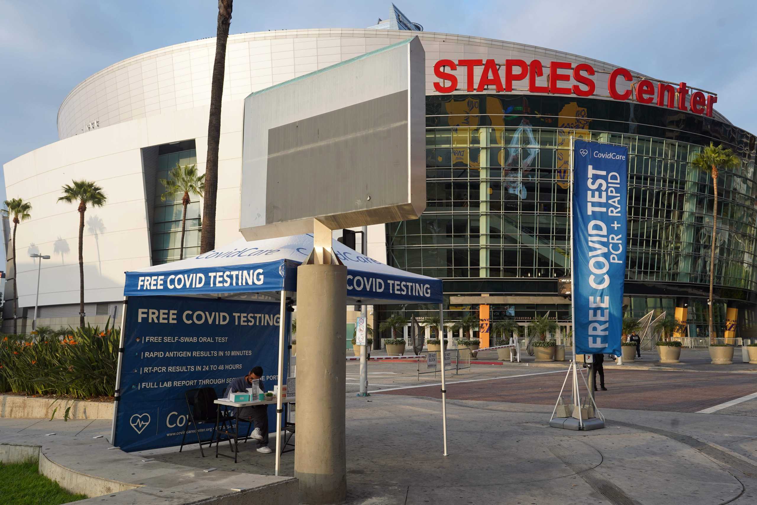
MULTIPOLYGON (((426 31, 540 45, 716 92, 716 109, 757 133, 757 9, 751 0, 395 3, 426 31)), ((215 36, 217 5, 0 0, 0 165, 58 140, 58 108, 88 76, 145 51, 215 36)), ((229 33, 364 28, 387 18, 389 8, 385 0, 236 0, 229 33)))

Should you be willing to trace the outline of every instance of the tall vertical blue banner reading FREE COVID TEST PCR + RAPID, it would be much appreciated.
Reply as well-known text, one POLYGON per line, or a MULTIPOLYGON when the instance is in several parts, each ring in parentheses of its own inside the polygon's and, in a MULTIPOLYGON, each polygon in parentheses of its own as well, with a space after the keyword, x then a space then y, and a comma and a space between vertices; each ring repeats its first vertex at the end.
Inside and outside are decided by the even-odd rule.
POLYGON ((620 356, 628 243, 628 148, 573 145, 573 323, 577 354, 620 356))

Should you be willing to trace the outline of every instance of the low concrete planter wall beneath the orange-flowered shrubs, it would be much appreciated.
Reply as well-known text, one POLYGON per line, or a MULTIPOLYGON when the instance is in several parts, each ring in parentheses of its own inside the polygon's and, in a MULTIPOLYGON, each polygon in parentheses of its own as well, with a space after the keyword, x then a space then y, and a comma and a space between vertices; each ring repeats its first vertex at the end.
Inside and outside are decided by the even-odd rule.
POLYGON ((20 419, 50 419, 53 410, 55 419, 64 419, 66 409, 71 407, 68 419, 113 419, 112 401, 58 400, 0 394, 0 417, 20 419))

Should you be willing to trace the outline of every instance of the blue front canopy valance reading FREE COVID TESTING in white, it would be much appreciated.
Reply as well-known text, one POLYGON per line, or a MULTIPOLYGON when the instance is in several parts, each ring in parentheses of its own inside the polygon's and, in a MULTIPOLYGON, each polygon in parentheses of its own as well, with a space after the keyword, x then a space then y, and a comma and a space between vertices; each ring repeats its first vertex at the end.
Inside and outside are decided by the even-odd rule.
POLYGON ((126 272, 126 296, 281 291, 285 262, 126 272))

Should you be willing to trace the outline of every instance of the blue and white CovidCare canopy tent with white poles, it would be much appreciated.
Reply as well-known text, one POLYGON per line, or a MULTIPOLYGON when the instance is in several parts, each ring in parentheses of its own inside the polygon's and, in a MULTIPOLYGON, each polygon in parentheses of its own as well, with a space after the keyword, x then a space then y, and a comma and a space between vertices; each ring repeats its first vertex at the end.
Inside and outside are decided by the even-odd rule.
MULTIPOLYGON (((332 242, 333 251, 347 267, 348 304, 439 304, 441 324, 442 282, 416 273, 389 267, 364 254, 347 248, 340 242, 332 242)), ((196 257, 165 263, 142 270, 126 272, 123 290, 125 310, 121 323, 121 342, 118 358, 116 388, 120 391, 124 338, 126 335, 126 304, 129 297, 180 296, 213 298, 223 300, 279 301, 279 355, 278 382, 282 389, 285 339, 285 311, 287 299, 296 303, 297 267, 313 250, 313 235, 294 235, 271 238, 257 242, 240 239, 223 248, 217 248, 196 257)), ((444 340, 442 339, 442 342, 444 340)), ((444 345, 444 344, 442 344, 444 345)), ((444 351, 444 348, 442 348, 444 351)), ((444 382, 444 366, 442 382, 444 382)), ((442 385, 444 391, 444 385, 442 385)), ((444 454, 447 454, 446 405, 443 393, 442 417, 444 431, 444 454)), ((276 426, 276 475, 279 471, 281 396, 277 405, 276 426)), ((116 431, 118 401, 114 407, 114 423, 111 441, 116 431)), ((139 421, 139 419, 138 419, 139 421)), ((132 426, 133 427, 133 426, 132 426)), ((137 429, 137 428, 135 428, 137 429)))

